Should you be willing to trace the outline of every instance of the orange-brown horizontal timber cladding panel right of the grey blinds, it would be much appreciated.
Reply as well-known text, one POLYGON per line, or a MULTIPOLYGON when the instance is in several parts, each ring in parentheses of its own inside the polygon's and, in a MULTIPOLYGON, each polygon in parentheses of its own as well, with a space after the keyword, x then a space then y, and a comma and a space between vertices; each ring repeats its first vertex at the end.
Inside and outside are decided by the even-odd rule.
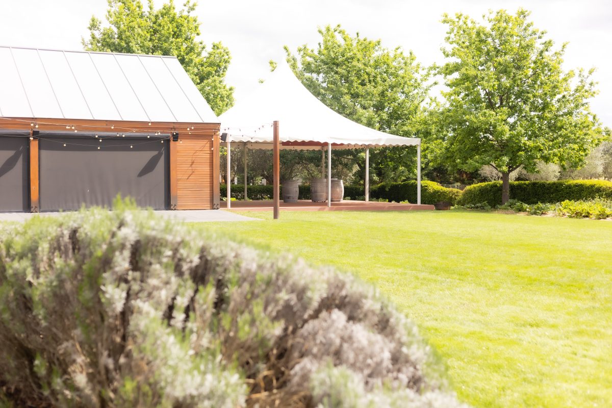
POLYGON ((184 132, 181 143, 172 145, 176 146, 177 210, 214 208, 213 161, 214 155, 218 155, 213 150, 213 138, 218 138, 215 133, 213 129, 209 135, 185 135, 184 132))

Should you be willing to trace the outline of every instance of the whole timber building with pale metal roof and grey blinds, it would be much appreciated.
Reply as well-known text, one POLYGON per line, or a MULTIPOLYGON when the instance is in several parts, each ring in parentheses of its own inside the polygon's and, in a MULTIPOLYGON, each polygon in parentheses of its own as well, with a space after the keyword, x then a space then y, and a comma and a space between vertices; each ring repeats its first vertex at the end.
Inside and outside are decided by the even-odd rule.
POLYGON ((176 57, 0 46, 0 212, 216 209, 219 127, 176 57))

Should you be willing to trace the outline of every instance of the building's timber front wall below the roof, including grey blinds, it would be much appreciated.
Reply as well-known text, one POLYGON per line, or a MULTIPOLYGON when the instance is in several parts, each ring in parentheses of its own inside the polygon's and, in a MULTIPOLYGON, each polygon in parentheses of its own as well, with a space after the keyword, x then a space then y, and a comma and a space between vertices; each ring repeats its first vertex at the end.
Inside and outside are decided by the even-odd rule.
POLYGON ((109 205, 117 193, 156 209, 219 207, 219 124, 108 124, 46 119, 37 124, 38 130, 33 130, 34 119, 2 119, 0 211, 39 212, 41 204, 42 210, 77 209, 81 204, 109 205), (76 130, 66 133, 70 123, 81 133, 76 130), (108 132, 113 127, 114 131, 108 132), (98 132, 100 138, 95 137, 98 132), (125 132, 125 137, 115 132, 125 132), (9 137, 9 133, 19 138, 9 137), (15 140, 20 143, 12 143, 15 140), (152 149, 149 156, 141 155, 147 146, 152 149), (61 157, 51 160, 50 153, 61 157), (91 155, 91 159, 85 155, 91 155), (89 178, 75 182, 75 177, 89 178), (154 180, 147 181, 147 177, 154 180), (155 199, 147 196, 147 191, 152 190, 150 182, 155 184, 155 199), (64 193, 58 183, 67 189, 64 193), (53 197, 48 194, 41 198, 40 189, 57 193, 64 201, 72 197, 72 201, 70 205, 64 201, 53 204, 53 197))

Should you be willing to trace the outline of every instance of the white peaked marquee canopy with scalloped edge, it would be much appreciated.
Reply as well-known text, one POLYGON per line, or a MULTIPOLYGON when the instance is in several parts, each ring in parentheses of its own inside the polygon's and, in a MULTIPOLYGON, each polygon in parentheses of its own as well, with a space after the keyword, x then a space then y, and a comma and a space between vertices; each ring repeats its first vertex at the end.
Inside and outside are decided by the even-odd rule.
POLYGON ((253 148, 271 148, 272 121, 279 121, 281 143, 304 142, 296 149, 320 149, 327 143, 334 149, 420 144, 418 138, 380 132, 336 113, 300 83, 285 61, 257 91, 219 119, 230 141, 253 148))

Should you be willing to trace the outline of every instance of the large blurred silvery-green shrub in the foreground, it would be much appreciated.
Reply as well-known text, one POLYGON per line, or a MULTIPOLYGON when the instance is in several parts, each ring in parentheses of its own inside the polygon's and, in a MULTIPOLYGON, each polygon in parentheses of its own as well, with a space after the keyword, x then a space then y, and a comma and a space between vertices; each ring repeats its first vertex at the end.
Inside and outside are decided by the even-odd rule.
POLYGON ((372 287, 118 206, 0 226, 0 405, 461 406, 372 287))

